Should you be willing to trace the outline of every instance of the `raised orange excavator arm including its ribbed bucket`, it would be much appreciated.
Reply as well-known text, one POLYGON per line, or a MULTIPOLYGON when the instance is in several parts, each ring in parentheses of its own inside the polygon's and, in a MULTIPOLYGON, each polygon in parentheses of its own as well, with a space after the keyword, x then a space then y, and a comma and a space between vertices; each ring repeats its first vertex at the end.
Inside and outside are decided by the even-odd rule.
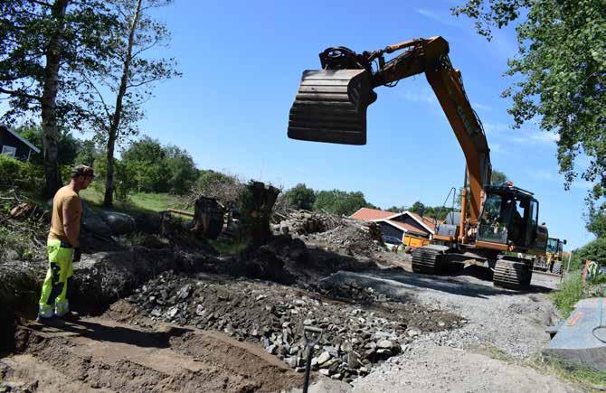
MULTIPOLYGON (((376 99, 373 89, 393 87, 399 80, 425 73, 465 154, 469 172, 469 224, 475 226, 483 186, 490 183, 490 154, 486 134, 448 53, 449 44, 442 37, 411 40, 362 54, 343 47, 328 48, 320 53, 323 70, 303 73, 290 109, 289 137, 365 145, 366 108, 376 99), (390 61, 384 60, 385 53, 395 51, 402 53, 390 61), (377 63, 375 70, 374 63, 377 63)), ((466 199, 465 194, 463 197, 466 199)), ((462 209, 462 217, 467 217, 466 203, 462 203, 462 209)))

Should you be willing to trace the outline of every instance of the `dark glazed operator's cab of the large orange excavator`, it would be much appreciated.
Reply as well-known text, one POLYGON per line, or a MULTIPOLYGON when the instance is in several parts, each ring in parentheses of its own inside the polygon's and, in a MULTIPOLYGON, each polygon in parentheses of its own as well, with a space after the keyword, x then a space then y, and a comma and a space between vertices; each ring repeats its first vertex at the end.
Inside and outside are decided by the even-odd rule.
POLYGON ((538 224, 539 203, 532 192, 514 186, 488 186, 477 239, 531 250, 546 246, 546 228, 538 224))

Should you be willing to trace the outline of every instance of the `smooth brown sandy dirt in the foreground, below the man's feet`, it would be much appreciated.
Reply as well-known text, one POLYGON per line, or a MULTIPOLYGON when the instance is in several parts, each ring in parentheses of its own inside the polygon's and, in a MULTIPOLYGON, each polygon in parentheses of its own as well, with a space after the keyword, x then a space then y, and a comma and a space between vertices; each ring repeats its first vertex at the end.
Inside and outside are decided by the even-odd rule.
POLYGON ((266 392, 302 382, 259 345, 220 332, 114 320, 133 313, 120 302, 99 318, 57 327, 27 323, 24 352, 0 363, 4 383, 32 391, 266 392))

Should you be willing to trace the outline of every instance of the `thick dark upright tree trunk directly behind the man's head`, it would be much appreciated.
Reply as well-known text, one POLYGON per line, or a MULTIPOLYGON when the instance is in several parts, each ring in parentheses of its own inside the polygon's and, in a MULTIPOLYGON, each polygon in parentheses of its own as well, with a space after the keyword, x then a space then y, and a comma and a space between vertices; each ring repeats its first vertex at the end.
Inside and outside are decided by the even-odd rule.
POLYGON ((46 50, 44 67, 44 85, 42 97, 42 120, 44 140, 44 177, 46 192, 54 195, 62 186, 61 171, 58 163, 57 145, 57 80, 62 57, 62 33, 65 24, 65 10, 69 0, 56 0, 52 5, 52 20, 56 23, 54 32, 46 50))

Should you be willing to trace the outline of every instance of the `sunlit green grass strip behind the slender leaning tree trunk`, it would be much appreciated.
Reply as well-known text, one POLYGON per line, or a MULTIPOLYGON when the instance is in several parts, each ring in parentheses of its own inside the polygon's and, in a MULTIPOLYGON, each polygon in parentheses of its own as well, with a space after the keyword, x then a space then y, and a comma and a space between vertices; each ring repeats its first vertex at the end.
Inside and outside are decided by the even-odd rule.
MULTIPOLYGON (((95 210, 103 209, 103 193, 93 188, 82 190, 80 196, 88 201, 91 208, 95 210)), ((179 209, 183 211, 194 212, 191 207, 185 206, 175 195, 168 193, 146 193, 137 192, 128 196, 128 201, 114 201, 111 208, 114 211, 121 211, 127 214, 133 213, 151 213, 166 211, 167 209, 179 209)))

